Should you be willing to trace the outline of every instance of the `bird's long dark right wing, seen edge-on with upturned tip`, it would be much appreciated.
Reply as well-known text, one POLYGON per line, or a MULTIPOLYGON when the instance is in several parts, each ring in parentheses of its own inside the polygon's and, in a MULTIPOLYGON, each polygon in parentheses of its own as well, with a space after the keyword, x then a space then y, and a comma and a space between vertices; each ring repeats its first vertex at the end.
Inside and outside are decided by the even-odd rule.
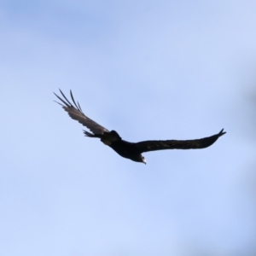
POLYGON ((226 132, 219 131, 218 134, 212 135, 211 137, 204 137, 196 140, 188 140, 188 141, 177 141, 177 140, 169 140, 169 141, 144 141, 140 143, 135 143, 138 151, 140 153, 154 151, 154 150, 162 150, 162 149, 196 149, 196 148, 207 148, 211 146, 218 140, 218 137, 223 136, 226 132))

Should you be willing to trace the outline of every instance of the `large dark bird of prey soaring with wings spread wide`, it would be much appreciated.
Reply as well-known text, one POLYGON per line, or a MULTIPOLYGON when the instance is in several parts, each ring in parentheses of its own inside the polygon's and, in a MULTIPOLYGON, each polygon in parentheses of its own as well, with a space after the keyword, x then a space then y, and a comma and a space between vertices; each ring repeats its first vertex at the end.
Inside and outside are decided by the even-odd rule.
MULTIPOLYGON (((61 91, 61 90, 60 90, 61 91)), ((54 93, 55 94, 55 93, 54 93)), ((177 140, 167 140, 167 141, 144 141, 139 143, 129 143, 123 140, 116 131, 108 131, 102 125, 97 124, 92 119, 88 118, 82 111, 79 102, 75 102, 73 98, 72 91, 70 90, 70 96, 72 98, 73 104, 67 100, 67 97, 61 91, 61 95, 58 99, 64 104, 57 102, 67 111, 68 115, 80 124, 86 126, 91 132, 84 131, 86 137, 98 137, 101 139, 102 143, 108 145, 110 148, 130 160, 136 162, 143 162, 146 164, 146 160, 143 157, 143 152, 162 150, 162 149, 197 149, 197 148, 207 148, 211 146, 218 140, 218 137, 223 136, 226 132, 224 129, 218 132, 218 134, 212 135, 211 137, 204 137, 195 140, 177 141, 177 140)))

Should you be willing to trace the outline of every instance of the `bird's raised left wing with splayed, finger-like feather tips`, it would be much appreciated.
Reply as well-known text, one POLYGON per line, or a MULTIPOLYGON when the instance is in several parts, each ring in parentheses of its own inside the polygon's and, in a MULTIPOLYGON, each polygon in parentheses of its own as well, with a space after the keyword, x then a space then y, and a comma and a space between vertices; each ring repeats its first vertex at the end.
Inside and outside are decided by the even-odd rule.
MULTIPOLYGON (((61 90, 60 90, 61 91, 61 90)), ((55 94, 55 92, 54 92, 55 94)), ((63 96, 64 99, 61 99, 60 96, 55 96, 58 97, 58 99, 64 104, 61 104, 60 102, 57 102, 64 108, 65 111, 67 111, 68 115, 77 121, 79 121, 80 124, 86 126, 90 131, 92 131, 94 134, 102 134, 103 132, 109 132, 106 128, 104 128, 102 125, 97 124, 95 121, 92 119, 88 118, 82 111, 82 108, 79 105, 79 102, 75 102, 73 99, 73 94, 72 91, 70 90, 70 96, 72 98, 73 104, 67 100, 67 97, 63 94, 61 91, 61 95, 63 96), (66 101, 65 101, 66 100, 66 101)), ((90 136, 90 133, 87 131, 84 131, 84 133, 88 136, 90 136)))

